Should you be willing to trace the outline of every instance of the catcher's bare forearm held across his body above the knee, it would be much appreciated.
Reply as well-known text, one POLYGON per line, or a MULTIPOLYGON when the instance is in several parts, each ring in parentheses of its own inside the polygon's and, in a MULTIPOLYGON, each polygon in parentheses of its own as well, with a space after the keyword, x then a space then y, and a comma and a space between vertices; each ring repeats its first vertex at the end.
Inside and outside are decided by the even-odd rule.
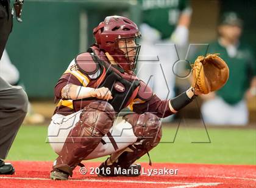
POLYGON ((82 98, 89 98, 92 95, 92 91, 94 89, 91 87, 83 87, 83 86, 76 86, 74 84, 67 84, 62 89, 62 98, 63 99, 82 99, 82 98))

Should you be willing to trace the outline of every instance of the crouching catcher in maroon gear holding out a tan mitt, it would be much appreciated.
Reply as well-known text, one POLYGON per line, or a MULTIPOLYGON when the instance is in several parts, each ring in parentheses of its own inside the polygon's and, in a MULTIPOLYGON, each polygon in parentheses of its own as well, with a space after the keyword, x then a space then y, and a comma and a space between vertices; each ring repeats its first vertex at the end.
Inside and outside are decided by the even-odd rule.
POLYGON ((176 98, 161 100, 133 73, 140 52, 136 39, 141 37, 133 21, 108 16, 93 35, 96 43, 69 64, 55 86, 58 104, 48 139, 59 156, 52 180, 68 180, 76 166, 83 166, 82 160, 107 155, 99 176, 140 175, 140 164, 133 163, 160 142, 160 118, 176 113, 195 96, 218 89, 228 77, 227 66, 218 56, 201 58, 193 71, 200 82, 176 98), (214 67, 214 72, 208 71, 214 67), (116 120, 125 107, 134 113, 116 120))

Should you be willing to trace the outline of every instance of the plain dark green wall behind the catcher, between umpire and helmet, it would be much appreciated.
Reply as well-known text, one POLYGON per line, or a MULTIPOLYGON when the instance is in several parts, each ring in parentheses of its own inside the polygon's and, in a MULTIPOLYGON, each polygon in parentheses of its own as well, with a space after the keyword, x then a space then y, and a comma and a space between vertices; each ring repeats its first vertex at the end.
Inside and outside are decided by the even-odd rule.
POLYGON ((25 1, 23 23, 13 19, 7 50, 30 98, 51 98, 55 83, 77 53, 93 44, 105 16, 140 21, 136 1, 25 1))

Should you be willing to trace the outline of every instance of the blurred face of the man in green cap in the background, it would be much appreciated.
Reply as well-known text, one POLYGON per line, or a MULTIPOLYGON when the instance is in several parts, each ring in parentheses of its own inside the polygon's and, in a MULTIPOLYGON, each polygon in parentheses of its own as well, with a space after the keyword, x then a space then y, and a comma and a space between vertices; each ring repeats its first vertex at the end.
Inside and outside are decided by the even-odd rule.
POLYGON ((229 41, 237 41, 241 36, 242 29, 236 25, 219 26, 219 34, 229 41))

